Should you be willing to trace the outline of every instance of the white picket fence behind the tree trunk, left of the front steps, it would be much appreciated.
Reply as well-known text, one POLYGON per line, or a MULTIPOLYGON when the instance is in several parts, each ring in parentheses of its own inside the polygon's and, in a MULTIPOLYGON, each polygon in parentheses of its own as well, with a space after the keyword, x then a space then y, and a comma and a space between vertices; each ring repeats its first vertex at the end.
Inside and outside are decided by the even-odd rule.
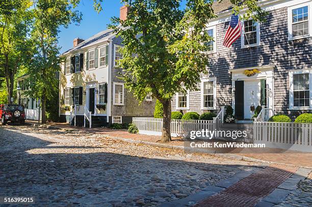
MULTIPOLYGON (((139 134, 162 135, 163 119, 149 117, 133 117, 132 122, 137 126, 139 134)), ((191 131, 215 130, 213 120, 171 120, 171 136, 183 136, 191 131)))

